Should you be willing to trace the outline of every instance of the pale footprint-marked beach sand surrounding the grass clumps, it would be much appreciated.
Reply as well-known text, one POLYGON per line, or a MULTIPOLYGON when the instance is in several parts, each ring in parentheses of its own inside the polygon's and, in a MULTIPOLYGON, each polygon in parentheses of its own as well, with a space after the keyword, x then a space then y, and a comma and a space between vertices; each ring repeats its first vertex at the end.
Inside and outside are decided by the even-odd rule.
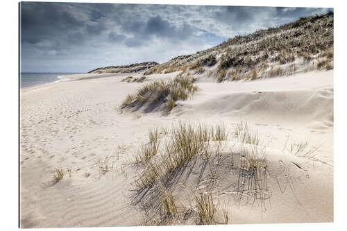
MULTIPOLYGON (((144 83, 177 74, 153 74, 144 83)), ((120 112, 126 95, 144 85, 121 81, 129 75, 80 74, 21 91, 22 227, 142 225, 145 215, 133 190, 133 155, 148 142, 151 128, 179 122, 223 123, 229 132, 221 152, 225 158, 216 159, 221 176, 227 177, 217 177, 212 188, 217 190, 215 201, 222 205, 228 200, 228 223, 333 221, 333 71, 248 82, 199 78, 199 91, 177 101, 168 116, 120 112), (255 203, 235 200, 234 178, 227 171, 234 160, 232 148, 239 144, 232 132, 241 121, 259 132, 266 148, 268 198, 255 203), (306 142, 307 151, 316 148, 314 156, 289 153, 291 144, 306 142), (52 180, 56 169, 65 171, 59 182, 52 180)), ((171 187, 177 198, 185 185, 203 188, 210 180, 207 173, 194 174, 171 187)), ((180 203, 189 207, 184 198, 180 203)))

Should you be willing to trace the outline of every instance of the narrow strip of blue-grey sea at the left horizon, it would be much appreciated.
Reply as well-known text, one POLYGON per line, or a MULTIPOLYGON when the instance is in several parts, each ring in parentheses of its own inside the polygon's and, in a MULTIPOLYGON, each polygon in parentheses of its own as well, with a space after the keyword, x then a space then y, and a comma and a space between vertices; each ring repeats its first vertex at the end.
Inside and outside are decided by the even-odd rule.
POLYGON ((65 80, 64 76, 79 73, 26 73, 20 74, 21 89, 56 83, 65 80))

